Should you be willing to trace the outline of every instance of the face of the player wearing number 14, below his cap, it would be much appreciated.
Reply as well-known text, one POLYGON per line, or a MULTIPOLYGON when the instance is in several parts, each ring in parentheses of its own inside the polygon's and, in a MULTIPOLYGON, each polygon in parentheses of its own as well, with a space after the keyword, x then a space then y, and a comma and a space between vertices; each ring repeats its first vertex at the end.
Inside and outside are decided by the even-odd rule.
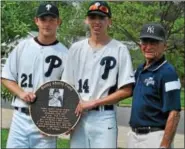
POLYGON ((87 17, 87 24, 90 27, 91 34, 106 34, 108 26, 111 25, 111 19, 99 15, 91 15, 87 17))

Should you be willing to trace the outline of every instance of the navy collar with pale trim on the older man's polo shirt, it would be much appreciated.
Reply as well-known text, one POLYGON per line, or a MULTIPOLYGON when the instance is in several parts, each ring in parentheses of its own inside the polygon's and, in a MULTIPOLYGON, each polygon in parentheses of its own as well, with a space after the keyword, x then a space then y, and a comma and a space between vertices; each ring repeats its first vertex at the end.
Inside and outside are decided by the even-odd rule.
MULTIPOLYGON (((153 62, 148 68, 148 71, 156 71, 161 66, 163 66, 167 60, 165 59, 165 56, 163 55, 158 61, 153 62)), ((146 62, 145 62, 146 63, 146 62)), ((142 65, 142 68, 144 69, 145 63, 142 65)))

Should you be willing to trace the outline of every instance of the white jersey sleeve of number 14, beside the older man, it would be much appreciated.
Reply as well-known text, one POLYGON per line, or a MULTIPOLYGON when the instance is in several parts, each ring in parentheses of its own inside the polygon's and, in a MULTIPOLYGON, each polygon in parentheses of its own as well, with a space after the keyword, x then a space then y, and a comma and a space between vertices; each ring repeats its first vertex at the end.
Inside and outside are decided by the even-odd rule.
POLYGON ((120 47, 118 88, 135 82, 131 57, 126 46, 120 47))

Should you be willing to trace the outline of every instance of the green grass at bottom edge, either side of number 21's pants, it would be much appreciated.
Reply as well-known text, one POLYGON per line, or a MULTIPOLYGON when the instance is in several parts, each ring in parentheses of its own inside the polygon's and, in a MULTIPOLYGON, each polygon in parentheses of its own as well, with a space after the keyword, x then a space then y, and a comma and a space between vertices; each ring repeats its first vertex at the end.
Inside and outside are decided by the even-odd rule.
MULTIPOLYGON (((6 141, 8 138, 8 129, 1 129, 1 148, 6 148, 6 141)), ((69 140, 58 139, 57 148, 69 148, 69 140)))

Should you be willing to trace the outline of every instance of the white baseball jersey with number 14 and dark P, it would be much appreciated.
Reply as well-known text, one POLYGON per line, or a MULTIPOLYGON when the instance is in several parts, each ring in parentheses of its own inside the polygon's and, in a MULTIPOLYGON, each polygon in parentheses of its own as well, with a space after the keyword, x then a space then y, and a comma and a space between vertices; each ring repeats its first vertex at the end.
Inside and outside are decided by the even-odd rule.
POLYGON ((74 43, 66 64, 62 80, 75 86, 85 101, 105 97, 135 81, 130 54, 115 39, 98 50, 88 39, 74 43))

